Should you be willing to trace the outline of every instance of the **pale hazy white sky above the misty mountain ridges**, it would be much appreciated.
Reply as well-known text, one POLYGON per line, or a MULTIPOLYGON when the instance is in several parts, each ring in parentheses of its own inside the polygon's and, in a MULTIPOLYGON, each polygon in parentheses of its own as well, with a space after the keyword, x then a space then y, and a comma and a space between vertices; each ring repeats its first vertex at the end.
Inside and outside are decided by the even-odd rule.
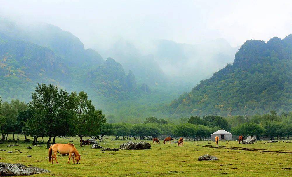
POLYGON ((136 43, 225 38, 237 46, 249 39, 267 41, 292 33, 292 1, 0 0, 0 4, 0 15, 59 26, 86 47, 108 45, 117 38, 136 43))

